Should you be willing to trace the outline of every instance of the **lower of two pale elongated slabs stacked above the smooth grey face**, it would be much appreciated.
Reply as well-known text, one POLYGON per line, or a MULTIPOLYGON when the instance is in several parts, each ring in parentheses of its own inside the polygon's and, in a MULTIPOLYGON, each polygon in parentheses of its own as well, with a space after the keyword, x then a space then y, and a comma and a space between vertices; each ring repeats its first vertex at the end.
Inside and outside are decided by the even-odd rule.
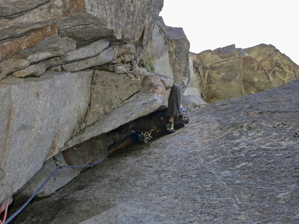
POLYGON ((75 72, 86 68, 106 64, 114 58, 114 48, 109 47, 95 57, 62 65, 63 71, 75 72))

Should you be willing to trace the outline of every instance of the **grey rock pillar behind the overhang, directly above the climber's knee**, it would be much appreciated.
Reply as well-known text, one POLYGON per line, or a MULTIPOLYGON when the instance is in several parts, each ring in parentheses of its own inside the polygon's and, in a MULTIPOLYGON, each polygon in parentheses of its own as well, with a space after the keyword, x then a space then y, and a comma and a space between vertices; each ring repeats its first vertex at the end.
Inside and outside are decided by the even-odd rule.
POLYGON ((144 57, 152 61, 157 73, 172 78, 184 92, 190 79, 189 48, 183 29, 166 26, 159 16, 144 57))

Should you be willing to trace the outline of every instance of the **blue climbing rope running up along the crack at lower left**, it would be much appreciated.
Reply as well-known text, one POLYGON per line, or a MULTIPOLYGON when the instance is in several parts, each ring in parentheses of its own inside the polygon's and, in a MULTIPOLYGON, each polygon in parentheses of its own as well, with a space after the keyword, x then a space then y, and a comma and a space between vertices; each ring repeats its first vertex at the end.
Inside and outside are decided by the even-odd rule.
POLYGON ((96 163, 90 163, 88 165, 72 165, 72 166, 69 166, 69 165, 60 165, 60 166, 57 166, 53 171, 52 173, 48 176, 48 178, 42 183, 42 185, 40 185, 40 187, 34 192, 34 194, 25 202, 24 205, 22 205, 21 208, 19 208, 18 211, 16 211, 11 217, 9 217, 9 219, 7 219, 4 224, 7 224, 9 223, 14 217, 16 217, 17 214, 19 214, 28 204, 29 202, 31 202, 31 200, 40 192, 40 190, 46 185, 46 183, 51 179, 52 176, 54 176, 54 174, 57 172, 58 169, 61 169, 61 168, 77 168, 77 167, 93 167, 94 165, 98 165, 99 163, 103 162, 104 160, 101 160, 101 161, 98 161, 96 163))

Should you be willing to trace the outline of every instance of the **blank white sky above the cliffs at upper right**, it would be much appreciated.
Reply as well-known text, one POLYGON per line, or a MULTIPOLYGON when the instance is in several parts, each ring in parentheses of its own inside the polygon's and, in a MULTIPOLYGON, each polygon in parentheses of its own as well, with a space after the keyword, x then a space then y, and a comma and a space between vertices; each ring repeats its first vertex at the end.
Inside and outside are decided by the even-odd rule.
POLYGON ((299 65, 297 0, 164 0, 167 26, 182 27, 190 51, 272 44, 299 65))

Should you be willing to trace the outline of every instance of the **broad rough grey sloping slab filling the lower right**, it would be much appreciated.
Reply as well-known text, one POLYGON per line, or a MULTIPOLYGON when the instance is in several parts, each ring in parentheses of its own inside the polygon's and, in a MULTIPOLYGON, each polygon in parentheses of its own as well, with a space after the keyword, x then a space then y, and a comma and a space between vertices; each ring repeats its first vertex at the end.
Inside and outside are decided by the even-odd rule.
POLYGON ((186 127, 109 157, 11 223, 298 223, 298 86, 192 111, 186 127))

